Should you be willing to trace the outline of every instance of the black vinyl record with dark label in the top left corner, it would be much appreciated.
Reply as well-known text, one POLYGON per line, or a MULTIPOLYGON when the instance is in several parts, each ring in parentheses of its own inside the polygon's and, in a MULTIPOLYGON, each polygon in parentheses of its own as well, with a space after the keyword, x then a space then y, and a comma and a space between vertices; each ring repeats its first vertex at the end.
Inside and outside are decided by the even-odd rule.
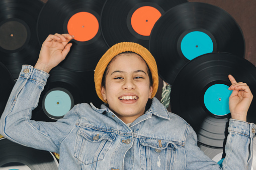
POLYGON ((35 65, 40 45, 36 23, 43 3, 39 0, 0 1, 0 62, 18 79, 23 64, 35 65))

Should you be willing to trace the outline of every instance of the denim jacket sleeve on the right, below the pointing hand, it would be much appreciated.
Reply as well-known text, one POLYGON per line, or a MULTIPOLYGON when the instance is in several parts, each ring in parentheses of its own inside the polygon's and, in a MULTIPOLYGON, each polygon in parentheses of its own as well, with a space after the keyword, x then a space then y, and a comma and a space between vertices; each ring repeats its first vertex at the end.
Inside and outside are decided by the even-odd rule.
POLYGON ((206 156, 197 147, 197 135, 192 127, 189 128, 185 143, 187 159, 186 169, 251 169, 252 140, 255 135, 255 124, 229 120, 227 143, 225 145, 226 157, 222 167, 206 156), (254 129, 254 130, 253 130, 254 129))

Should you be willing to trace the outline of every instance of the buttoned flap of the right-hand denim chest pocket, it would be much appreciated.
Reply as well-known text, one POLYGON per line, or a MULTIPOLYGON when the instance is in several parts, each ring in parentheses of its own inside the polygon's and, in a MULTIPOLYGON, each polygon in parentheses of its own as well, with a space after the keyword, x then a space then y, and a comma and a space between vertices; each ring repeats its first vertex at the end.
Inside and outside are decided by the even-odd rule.
POLYGON ((178 148, 178 146, 170 140, 140 138, 139 141, 141 145, 149 146, 155 149, 172 149, 174 147, 178 148))

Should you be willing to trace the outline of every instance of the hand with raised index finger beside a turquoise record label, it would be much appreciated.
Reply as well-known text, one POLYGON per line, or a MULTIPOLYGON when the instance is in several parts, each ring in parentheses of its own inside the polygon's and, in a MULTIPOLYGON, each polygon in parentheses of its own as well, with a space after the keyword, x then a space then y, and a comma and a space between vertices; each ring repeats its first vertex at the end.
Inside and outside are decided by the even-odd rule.
POLYGON ((233 119, 246 121, 247 111, 252 101, 252 94, 246 83, 237 83, 233 76, 228 75, 231 82, 229 90, 233 90, 229 97, 229 110, 233 119))

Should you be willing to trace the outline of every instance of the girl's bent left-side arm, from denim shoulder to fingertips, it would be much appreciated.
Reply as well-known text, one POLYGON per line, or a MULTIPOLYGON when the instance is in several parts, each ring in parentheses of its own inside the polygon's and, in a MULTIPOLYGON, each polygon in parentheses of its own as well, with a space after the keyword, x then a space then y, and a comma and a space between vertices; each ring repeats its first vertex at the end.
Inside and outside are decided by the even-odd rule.
POLYGON ((67 43, 72 38, 66 39, 64 46, 61 38, 65 36, 69 35, 50 35, 46 39, 36 64, 38 69, 23 66, 0 120, 0 133, 8 139, 37 149, 58 152, 60 142, 72 128, 76 119, 72 110, 58 122, 30 120, 49 76, 47 72, 61 62, 70 49, 71 45, 67 43))

